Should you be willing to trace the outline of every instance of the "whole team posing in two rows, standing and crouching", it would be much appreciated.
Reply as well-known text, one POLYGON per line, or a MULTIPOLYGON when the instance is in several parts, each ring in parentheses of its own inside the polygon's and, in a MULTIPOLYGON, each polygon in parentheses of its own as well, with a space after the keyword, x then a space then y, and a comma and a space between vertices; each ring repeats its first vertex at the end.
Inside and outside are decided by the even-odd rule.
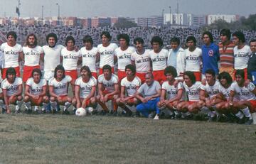
POLYGON ((126 33, 117 35, 119 45, 112 43, 108 31, 100 33, 99 45, 90 35, 68 35, 64 46, 48 33, 42 47, 33 33, 23 46, 17 37, 9 31, 1 44, 2 114, 18 114, 24 105, 27 114, 61 108, 63 114, 85 109, 102 116, 256 123, 256 40, 240 31, 221 30, 220 43, 205 31, 201 48, 193 35, 186 43, 174 37, 169 50, 157 35, 151 50, 126 33))

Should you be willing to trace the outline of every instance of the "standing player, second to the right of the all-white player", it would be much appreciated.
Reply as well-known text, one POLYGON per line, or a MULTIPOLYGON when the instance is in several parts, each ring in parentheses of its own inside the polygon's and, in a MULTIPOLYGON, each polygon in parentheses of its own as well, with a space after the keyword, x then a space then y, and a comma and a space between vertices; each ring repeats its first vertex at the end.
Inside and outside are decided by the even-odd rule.
POLYGON ((80 53, 82 55, 82 66, 87 65, 90 67, 92 76, 97 79, 96 62, 100 59, 99 54, 97 53, 97 48, 92 46, 93 40, 90 35, 85 35, 82 42, 85 45, 80 49, 80 53))

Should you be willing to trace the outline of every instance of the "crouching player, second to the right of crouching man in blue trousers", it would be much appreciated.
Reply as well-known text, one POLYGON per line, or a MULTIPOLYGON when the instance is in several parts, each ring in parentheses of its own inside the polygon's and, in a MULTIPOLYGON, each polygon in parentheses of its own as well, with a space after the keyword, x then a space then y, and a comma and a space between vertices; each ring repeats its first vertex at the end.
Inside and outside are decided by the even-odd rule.
POLYGON ((177 109, 183 117, 191 119, 191 113, 196 114, 201 109, 199 104, 201 82, 196 81, 196 76, 191 71, 184 72, 183 80, 183 87, 188 94, 188 102, 180 102, 177 109))

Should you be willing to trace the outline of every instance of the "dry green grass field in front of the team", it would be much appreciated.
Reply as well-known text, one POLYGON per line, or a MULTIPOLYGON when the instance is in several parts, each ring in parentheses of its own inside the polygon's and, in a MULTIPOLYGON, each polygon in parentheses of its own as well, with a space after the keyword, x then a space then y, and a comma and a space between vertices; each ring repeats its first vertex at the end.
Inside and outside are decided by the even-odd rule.
POLYGON ((256 126, 0 114, 0 163, 256 163, 256 126))

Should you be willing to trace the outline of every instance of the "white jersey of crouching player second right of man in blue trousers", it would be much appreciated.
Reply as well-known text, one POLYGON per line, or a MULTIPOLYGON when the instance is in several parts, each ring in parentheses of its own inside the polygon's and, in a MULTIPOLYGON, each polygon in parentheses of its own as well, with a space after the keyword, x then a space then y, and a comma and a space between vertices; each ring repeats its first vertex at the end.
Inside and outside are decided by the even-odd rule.
POLYGON ((185 82, 183 82, 183 87, 188 94, 188 100, 191 102, 198 102, 200 100, 200 88, 201 82, 195 82, 191 87, 188 87, 185 82))

